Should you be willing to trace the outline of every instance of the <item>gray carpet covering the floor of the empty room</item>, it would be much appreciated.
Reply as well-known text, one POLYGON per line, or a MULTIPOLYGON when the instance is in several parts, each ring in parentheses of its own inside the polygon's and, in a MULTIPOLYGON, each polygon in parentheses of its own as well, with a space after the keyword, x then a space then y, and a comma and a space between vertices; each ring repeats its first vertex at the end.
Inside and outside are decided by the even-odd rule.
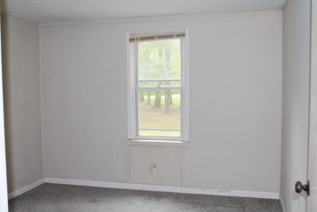
POLYGON ((281 212, 278 200, 45 183, 9 200, 9 212, 281 212))

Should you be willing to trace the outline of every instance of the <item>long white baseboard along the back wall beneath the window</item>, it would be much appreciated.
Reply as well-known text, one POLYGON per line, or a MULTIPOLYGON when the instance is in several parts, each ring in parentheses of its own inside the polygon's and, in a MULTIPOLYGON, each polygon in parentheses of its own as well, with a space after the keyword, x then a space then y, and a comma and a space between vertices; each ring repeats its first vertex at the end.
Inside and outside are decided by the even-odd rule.
POLYGON ((161 191, 161 192, 175 192, 185 194, 205 194, 231 197, 252 197, 264 199, 279 199, 279 193, 275 192, 255 192, 255 191, 238 191, 238 190, 219 190, 219 189, 202 189, 202 188, 188 188, 177 186, 159 186, 159 185, 145 185, 133 183, 118 183, 105 181, 91 181, 91 180, 74 180, 64 178, 45 178, 46 183, 77 185, 77 186, 93 186, 103 188, 116 189, 131 189, 144 191, 161 191))

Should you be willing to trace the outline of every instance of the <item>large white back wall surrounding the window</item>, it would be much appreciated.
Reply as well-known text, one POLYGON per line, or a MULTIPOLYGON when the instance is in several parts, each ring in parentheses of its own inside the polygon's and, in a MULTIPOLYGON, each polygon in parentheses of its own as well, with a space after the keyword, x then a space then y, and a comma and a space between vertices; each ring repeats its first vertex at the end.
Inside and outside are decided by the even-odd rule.
POLYGON ((281 12, 40 31, 46 177, 279 192, 281 12), (190 30, 190 147, 128 146, 126 32, 166 28, 190 30))

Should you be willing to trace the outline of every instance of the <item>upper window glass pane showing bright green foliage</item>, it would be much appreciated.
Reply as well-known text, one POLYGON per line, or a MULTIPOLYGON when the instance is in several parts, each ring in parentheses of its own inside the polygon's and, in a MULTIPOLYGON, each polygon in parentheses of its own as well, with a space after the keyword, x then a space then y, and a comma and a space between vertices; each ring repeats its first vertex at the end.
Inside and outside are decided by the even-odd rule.
MULTIPOLYGON (((157 86, 159 81, 146 79, 181 78, 181 39, 147 41, 138 43, 139 82, 157 86), (143 81, 145 80, 145 81, 143 81)), ((170 84, 179 81, 167 81, 170 84)))

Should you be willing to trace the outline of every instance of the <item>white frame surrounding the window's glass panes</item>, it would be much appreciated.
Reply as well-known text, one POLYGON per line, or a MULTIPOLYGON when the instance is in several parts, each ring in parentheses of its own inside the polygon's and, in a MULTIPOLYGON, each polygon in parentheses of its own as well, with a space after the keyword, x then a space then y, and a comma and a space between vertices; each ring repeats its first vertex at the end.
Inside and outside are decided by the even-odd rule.
POLYGON ((128 144, 129 145, 154 145, 154 146, 189 146, 189 36, 188 29, 168 30, 142 30, 127 32, 127 97, 128 97, 128 144), (129 41, 131 34, 156 34, 185 32, 185 38, 181 39, 181 137, 152 137, 137 135, 137 103, 136 93, 137 71, 135 61, 137 54, 135 44, 129 41))

